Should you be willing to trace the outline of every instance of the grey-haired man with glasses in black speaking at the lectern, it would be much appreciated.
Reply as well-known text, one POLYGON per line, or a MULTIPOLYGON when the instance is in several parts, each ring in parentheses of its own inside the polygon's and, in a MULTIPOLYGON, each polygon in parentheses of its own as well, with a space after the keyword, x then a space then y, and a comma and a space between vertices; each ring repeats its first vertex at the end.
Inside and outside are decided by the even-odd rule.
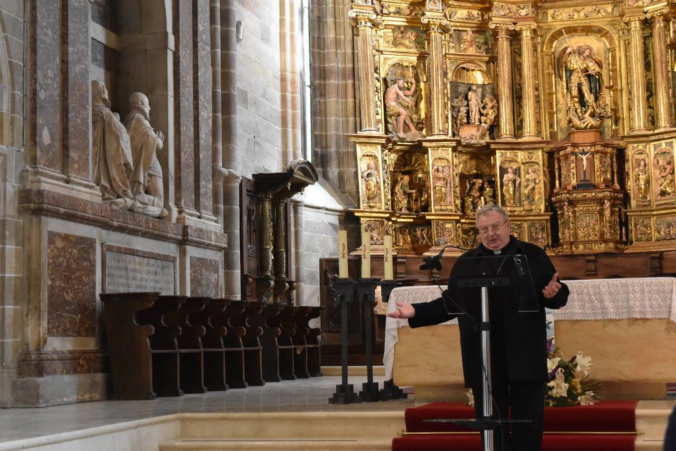
POLYGON ((443 298, 418 304, 397 302, 397 310, 387 316, 408 318, 410 327, 439 324, 458 317, 464 382, 474 392, 477 418, 482 417, 481 396, 485 371, 481 363, 480 292, 478 288, 458 289, 456 283, 458 277, 466 275, 509 275, 510 271, 518 269, 514 267, 514 259, 508 256, 525 255, 539 310, 519 312, 514 306, 510 288, 489 289, 490 387, 494 416, 508 419, 511 408, 512 419, 530 422, 512 424, 511 433, 510 427, 496 428, 493 449, 539 451, 544 429, 544 382, 548 379, 544 308, 563 307, 568 300, 569 290, 558 281, 558 273, 544 250, 510 235, 510 220, 502 207, 492 204, 481 207, 477 212, 477 228, 481 244, 456 261, 448 282, 448 291, 443 298), (496 258, 500 255, 506 258, 496 258), (477 257, 492 258, 479 260, 477 257), (471 258, 474 259, 463 261, 471 258), (504 263, 506 265, 503 267, 504 263), (460 309, 467 314, 456 315, 460 309))

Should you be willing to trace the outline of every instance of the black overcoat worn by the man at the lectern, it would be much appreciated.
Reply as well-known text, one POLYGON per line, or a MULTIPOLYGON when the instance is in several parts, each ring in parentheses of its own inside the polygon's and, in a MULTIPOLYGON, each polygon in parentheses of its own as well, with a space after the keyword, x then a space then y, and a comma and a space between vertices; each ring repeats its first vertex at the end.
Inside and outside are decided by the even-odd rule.
MULTIPOLYGON (((569 295, 568 287, 561 284, 556 296, 546 299, 542 290, 556 273, 552 261, 544 250, 535 244, 522 242, 513 236, 501 255, 520 255, 527 257, 528 266, 535 286, 535 294, 539 302, 539 311, 520 313, 513 305, 506 302, 512 298, 509 288, 489 288, 489 320, 491 322, 491 365, 496 361, 506 362, 509 380, 542 380, 547 374, 547 327, 544 307, 559 309, 563 307, 569 295)), ((449 314, 454 304, 448 298, 437 298, 429 302, 413 304, 416 314, 408 320, 410 327, 434 325, 458 318, 460 326, 460 347, 462 350, 462 367, 466 387, 481 383, 483 373, 481 365, 481 295, 479 289, 458 289, 458 277, 477 273, 477 265, 481 264, 481 273, 496 274, 495 258, 485 260, 489 263, 477 263, 477 259, 463 261, 472 257, 496 257, 492 250, 479 245, 478 248, 464 253, 453 266, 448 282, 447 293, 467 312, 467 315, 449 314)), ((497 259, 500 260, 500 259, 497 259)), ((502 268, 500 268, 502 271, 502 268)), ((503 273, 500 272, 500 275, 503 273)), ((493 376, 495 376, 493 372, 493 376)))

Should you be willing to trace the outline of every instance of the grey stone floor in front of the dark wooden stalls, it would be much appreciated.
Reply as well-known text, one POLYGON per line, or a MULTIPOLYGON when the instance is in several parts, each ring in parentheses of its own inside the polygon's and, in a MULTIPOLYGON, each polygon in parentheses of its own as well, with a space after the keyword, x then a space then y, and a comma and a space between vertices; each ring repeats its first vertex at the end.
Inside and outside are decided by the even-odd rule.
MULTIPOLYGON (((375 377, 382 382, 385 377, 375 377)), ((350 377, 358 392, 366 377, 350 377)), ((313 377, 227 392, 158 398, 152 401, 97 401, 44 408, 0 409, 0 443, 52 435, 174 413, 259 413, 337 410, 404 410, 412 399, 363 404, 329 404, 340 377, 313 377)))

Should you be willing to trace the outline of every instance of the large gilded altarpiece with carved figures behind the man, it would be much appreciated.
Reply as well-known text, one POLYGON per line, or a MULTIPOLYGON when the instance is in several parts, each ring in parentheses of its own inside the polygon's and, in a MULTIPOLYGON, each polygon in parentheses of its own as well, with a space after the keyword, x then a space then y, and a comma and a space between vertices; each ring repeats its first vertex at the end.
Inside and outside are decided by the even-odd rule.
POLYGON ((554 253, 676 243, 670 3, 353 3, 372 251, 473 246, 489 203, 554 253))

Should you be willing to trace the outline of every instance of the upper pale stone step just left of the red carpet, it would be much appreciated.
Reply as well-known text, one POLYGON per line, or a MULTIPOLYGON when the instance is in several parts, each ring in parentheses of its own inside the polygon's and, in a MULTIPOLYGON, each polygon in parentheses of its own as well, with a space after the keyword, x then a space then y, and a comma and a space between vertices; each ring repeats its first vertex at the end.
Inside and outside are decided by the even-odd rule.
MULTIPOLYGON (((352 404, 364 407, 364 404, 352 404)), ((383 405, 384 407, 384 405, 383 405)), ((389 438, 406 427, 404 411, 194 414, 181 422, 183 440, 266 438, 389 438)), ((314 448, 313 448, 314 449, 314 448)))

